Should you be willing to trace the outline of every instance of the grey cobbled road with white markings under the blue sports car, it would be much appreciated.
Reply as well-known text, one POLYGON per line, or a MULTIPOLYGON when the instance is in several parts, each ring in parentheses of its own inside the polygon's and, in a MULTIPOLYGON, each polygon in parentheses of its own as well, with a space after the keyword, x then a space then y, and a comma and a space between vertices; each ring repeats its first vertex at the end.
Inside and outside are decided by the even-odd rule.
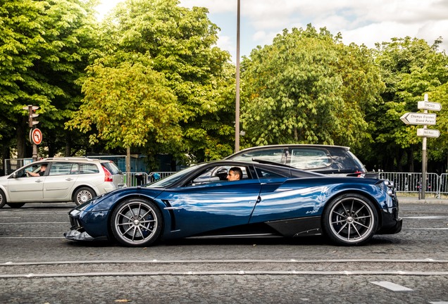
POLYGON ((360 247, 75 243, 62 235, 73 206, 0 209, 0 303, 448 303, 448 203, 405 201, 402 232, 360 247))

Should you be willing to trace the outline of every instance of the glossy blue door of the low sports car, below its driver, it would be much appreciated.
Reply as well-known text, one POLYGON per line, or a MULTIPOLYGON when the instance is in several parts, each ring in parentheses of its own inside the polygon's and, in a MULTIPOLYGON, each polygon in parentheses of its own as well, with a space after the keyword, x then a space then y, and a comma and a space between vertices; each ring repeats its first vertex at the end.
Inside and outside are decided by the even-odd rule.
MULTIPOLYGON (((216 169, 219 168, 213 172, 222 172, 216 169)), ((228 182, 212 175, 207 181, 201 175, 194 180, 198 182, 166 190, 158 196, 169 205, 167 209, 174 217, 173 230, 177 230, 177 236, 191 236, 249 222, 261 189, 258 179, 246 177, 228 182)))

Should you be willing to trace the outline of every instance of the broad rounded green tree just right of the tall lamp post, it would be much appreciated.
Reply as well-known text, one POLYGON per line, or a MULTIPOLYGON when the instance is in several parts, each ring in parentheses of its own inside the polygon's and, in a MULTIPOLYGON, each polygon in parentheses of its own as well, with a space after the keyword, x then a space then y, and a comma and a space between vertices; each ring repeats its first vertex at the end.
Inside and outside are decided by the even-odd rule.
POLYGON ((369 141, 364 108, 382 90, 365 46, 344 46, 328 30, 284 30, 242 62, 242 122, 250 144, 369 141))

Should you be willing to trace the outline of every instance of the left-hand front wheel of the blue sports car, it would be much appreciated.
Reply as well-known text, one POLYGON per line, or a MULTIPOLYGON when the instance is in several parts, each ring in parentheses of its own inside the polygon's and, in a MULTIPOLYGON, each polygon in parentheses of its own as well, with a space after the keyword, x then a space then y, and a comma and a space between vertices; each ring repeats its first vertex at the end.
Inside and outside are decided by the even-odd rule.
POLYGON ((118 204, 110 224, 113 236, 123 245, 149 246, 161 235, 162 215, 151 201, 130 198, 118 204))

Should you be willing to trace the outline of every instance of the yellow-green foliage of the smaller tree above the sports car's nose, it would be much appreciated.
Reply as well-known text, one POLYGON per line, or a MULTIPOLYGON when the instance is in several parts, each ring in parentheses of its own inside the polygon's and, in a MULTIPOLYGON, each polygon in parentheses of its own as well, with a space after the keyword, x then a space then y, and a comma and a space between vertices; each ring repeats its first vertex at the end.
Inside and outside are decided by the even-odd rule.
MULTIPOLYGON (((100 62, 100 61, 99 61, 100 62)), ((82 85, 84 103, 69 127, 98 133, 91 144, 106 140, 106 148, 143 146, 149 139, 178 141, 180 113, 175 96, 161 73, 137 61, 116 67, 91 65, 82 85)))

